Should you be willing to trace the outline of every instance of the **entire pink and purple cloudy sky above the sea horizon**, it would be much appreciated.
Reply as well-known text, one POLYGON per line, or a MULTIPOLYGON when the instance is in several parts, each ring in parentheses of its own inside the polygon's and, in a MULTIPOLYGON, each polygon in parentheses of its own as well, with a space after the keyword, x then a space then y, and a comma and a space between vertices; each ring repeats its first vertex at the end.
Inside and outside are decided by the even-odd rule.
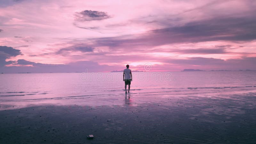
POLYGON ((256 1, 4 0, 0 72, 256 70, 256 1))

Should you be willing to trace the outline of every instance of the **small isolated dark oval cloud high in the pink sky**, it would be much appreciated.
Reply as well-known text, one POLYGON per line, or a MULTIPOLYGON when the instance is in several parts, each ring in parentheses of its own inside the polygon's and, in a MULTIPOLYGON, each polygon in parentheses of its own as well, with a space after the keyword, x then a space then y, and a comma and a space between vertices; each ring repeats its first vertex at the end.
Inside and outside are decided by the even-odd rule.
POLYGON ((110 18, 110 16, 107 12, 100 11, 85 10, 82 12, 76 12, 75 14, 75 20, 78 21, 104 20, 108 18, 110 18))

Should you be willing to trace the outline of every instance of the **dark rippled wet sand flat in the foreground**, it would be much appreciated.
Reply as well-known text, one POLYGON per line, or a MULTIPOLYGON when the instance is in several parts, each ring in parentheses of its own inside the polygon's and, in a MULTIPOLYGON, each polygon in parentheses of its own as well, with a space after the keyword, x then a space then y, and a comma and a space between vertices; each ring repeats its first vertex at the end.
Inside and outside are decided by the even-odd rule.
POLYGON ((255 96, 131 94, 108 99, 122 104, 100 106, 93 105, 99 99, 23 108, 2 103, 0 143, 255 143, 255 96))

